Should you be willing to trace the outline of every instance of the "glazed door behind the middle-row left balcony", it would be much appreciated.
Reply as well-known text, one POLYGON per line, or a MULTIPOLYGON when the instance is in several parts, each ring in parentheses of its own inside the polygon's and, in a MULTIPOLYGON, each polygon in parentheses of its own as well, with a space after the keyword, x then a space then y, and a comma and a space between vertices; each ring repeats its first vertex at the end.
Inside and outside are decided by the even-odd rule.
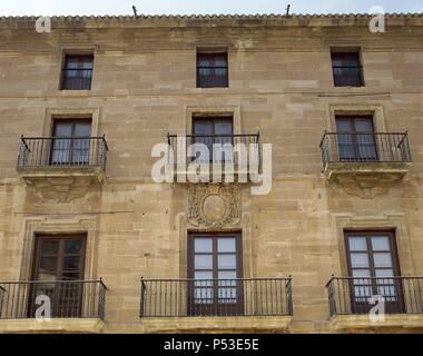
POLYGON ((91 120, 55 120, 50 164, 83 166, 89 164, 91 120))

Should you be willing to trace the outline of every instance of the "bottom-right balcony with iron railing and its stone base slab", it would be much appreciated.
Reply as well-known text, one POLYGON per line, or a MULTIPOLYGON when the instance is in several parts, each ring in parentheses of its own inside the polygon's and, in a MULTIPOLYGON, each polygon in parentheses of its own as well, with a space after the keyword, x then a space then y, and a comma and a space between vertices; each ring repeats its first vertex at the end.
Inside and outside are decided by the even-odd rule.
POLYGON ((423 277, 333 277, 326 288, 335 329, 423 329, 423 277))

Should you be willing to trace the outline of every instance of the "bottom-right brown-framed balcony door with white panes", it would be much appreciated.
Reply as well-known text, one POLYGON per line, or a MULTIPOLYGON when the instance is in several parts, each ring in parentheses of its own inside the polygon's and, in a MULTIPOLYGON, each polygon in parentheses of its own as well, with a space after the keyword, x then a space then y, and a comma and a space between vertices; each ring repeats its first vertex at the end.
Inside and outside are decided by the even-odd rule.
POLYGON ((366 314, 374 305, 372 296, 382 296, 385 313, 404 310, 403 288, 395 236, 393 231, 352 231, 345 233, 348 255, 352 312, 366 314))

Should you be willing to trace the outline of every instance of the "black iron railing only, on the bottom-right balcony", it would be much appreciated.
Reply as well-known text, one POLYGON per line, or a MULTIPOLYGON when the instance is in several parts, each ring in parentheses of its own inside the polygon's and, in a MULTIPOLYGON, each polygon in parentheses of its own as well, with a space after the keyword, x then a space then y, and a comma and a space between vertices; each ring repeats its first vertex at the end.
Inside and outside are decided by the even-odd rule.
POLYGON ((329 314, 423 314, 423 277, 332 277, 326 285, 329 314))

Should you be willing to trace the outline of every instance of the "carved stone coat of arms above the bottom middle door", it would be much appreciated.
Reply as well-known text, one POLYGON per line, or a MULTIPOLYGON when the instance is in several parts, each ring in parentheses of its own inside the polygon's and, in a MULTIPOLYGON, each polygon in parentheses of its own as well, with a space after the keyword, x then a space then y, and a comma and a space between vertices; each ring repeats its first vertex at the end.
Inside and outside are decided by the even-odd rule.
POLYGON ((236 185, 193 185, 188 188, 188 221, 222 228, 240 222, 240 190, 236 185))

